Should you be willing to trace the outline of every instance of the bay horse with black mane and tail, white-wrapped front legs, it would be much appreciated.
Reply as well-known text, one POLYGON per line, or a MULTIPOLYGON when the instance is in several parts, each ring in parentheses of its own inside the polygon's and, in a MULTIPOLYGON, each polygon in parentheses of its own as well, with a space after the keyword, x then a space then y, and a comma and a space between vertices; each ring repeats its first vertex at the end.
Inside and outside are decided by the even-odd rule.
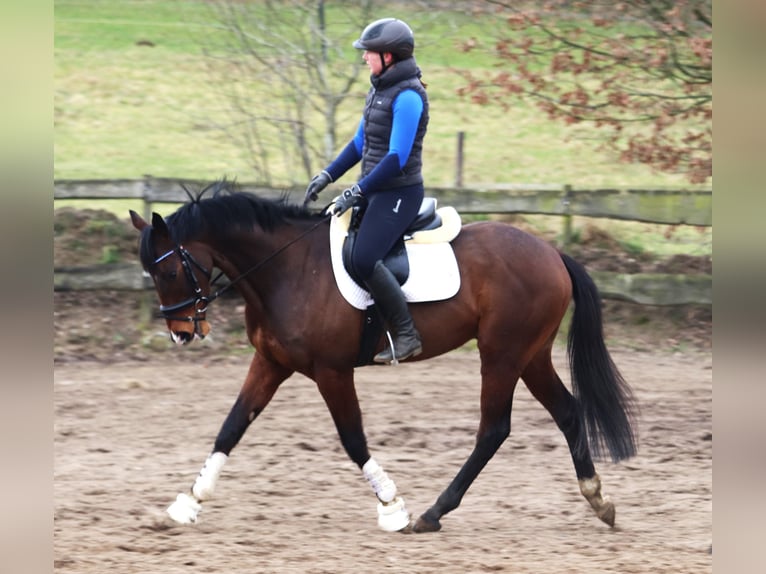
MULTIPOLYGON (((339 293, 327 239, 332 217, 287 195, 267 199, 217 181, 163 218, 131 211, 139 257, 151 276, 171 339, 179 345, 210 331, 210 304, 229 288, 245 302, 255 349, 238 396, 199 475, 167 509, 176 522, 197 521, 223 466, 280 384, 293 373, 312 379, 340 442, 377 496, 378 526, 435 532, 509 436, 514 390, 521 379, 550 413, 569 447, 580 492, 610 527, 614 503, 602 493, 594 459, 636 453, 637 404, 607 350, 601 300, 585 268, 541 238, 511 224, 462 225, 451 245, 460 287, 446 300, 411 303, 424 361, 475 339, 481 359, 480 417, 472 452, 434 504, 415 519, 396 484, 370 454, 354 387, 364 314, 339 293), (207 197, 206 197, 207 195, 207 197), (213 270, 229 283, 213 292, 213 270), (551 357, 571 311, 567 357, 572 391, 551 357)), ((386 342, 381 335, 375 352, 386 342)), ((374 368, 401 368, 377 366, 374 368)))

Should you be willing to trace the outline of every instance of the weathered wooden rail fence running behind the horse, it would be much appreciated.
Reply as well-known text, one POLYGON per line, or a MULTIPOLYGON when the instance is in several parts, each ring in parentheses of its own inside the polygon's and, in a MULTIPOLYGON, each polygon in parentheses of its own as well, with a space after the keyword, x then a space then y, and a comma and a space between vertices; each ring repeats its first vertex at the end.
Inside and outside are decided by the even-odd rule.
MULTIPOLYGON (((182 185, 201 189, 207 182, 155 178, 142 180, 62 180, 54 182, 54 199, 136 199, 145 218, 156 204, 183 203, 182 185)), ((239 183, 262 197, 289 194, 302 201, 303 188, 272 188, 239 183)), ((340 191, 341 188, 337 188, 340 191)), ((329 197, 332 191, 326 192, 329 197)), ((464 214, 543 214, 562 218, 562 249, 571 234, 572 216, 609 218, 665 225, 713 224, 711 191, 666 189, 577 189, 570 185, 492 185, 471 188, 428 188, 426 194, 441 205, 452 205, 464 214)), ((646 305, 712 305, 711 275, 619 274, 592 272, 605 299, 646 305)), ((54 269, 54 289, 148 289, 138 264, 99 265, 91 268, 54 269)))

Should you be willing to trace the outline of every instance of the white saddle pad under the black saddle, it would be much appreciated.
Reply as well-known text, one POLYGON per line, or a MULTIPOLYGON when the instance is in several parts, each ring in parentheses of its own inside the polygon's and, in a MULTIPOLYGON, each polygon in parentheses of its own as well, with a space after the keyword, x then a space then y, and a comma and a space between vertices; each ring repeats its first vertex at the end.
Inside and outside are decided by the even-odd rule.
MULTIPOLYGON (((346 238, 350 216, 351 210, 340 218, 333 217, 330 223, 332 270, 338 289, 346 301, 357 309, 366 309, 373 304, 370 293, 357 285, 343 266, 343 241, 346 238)), ((405 241, 404 245, 410 260, 410 275, 402 285, 407 301, 411 303, 442 301, 458 292, 460 271, 452 245, 447 242, 418 243, 416 241, 405 241)))

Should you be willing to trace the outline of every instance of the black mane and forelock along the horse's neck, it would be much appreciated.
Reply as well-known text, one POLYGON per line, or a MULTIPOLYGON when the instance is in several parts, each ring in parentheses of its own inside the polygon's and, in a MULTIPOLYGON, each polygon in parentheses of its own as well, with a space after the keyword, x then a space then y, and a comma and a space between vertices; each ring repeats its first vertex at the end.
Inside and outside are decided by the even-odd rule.
MULTIPOLYGON (((289 203, 287 194, 279 199, 258 197, 240 191, 227 180, 209 184, 194 195, 185 187, 184 190, 189 201, 165 218, 170 238, 176 244, 191 241, 203 231, 213 236, 255 227, 270 232, 288 220, 316 221, 322 217, 303 206, 289 203)), ((146 268, 157 257, 149 227, 141 234, 140 257, 146 268)))

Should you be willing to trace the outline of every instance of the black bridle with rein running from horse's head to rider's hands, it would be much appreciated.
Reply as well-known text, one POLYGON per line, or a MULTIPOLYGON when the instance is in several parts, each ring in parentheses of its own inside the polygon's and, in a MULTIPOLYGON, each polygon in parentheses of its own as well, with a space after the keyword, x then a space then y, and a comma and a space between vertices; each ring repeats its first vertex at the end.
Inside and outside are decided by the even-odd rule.
MULTIPOLYGON (((332 217, 331 214, 325 215, 319 221, 317 221, 314 225, 309 227, 306 231, 304 231, 303 233, 301 233, 294 239, 288 241, 286 244, 284 244, 282 247, 274 251, 272 254, 270 254, 268 257, 266 257, 262 261, 259 261, 258 263, 250 267, 249 269, 237 275, 227 285, 224 285, 221 289, 217 290, 212 295, 202 295, 202 288, 199 286, 199 281, 197 280, 197 276, 194 274, 194 270, 192 269, 192 266, 197 267, 200 271, 202 271, 202 273, 205 274, 207 278, 210 278, 212 276, 212 272, 209 271, 207 268, 205 268, 205 266, 202 265, 199 261, 197 261, 194 258, 194 256, 191 253, 189 253, 189 251, 187 251, 187 249, 183 245, 178 245, 174 247, 167 253, 164 253, 160 255, 157 259, 155 259, 152 265, 156 265, 157 263, 169 257, 170 255, 173 255, 174 253, 178 254, 179 258, 181 259, 181 265, 183 266, 184 274, 186 275, 186 280, 191 284, 192 289, 194 290, 194 294, 191 297, 184 299, 180 303, 175 303, 173 305, 160 305, 160 313, 162 313, 162 316, 167 320, 186 321, 186 322, 194 323, 194 330, 196 332, 199 326, 199 322, 204 319, 203 315, 205 311, 207 311, 208 305, 210 305, 210 303, 212 303, 213 301, 218 299, 218 297, 226 293, 235 284, 237 284, 239 281, 244 279, 245 276, 249 275, 253 271, 256 271, 257 269, 260 269, 261 267, 266 265, 268 262, 270 262, 272 259, 274 259, 277 255, 279 255, 284 250, 286 250, 288 247, 290 247, 294 243, 306 237, 309 233, 314 231, 317 227, 319 227, 322 223, 327 221, 327 219, 329 219, 330 217, 332 217), (194 306, 193 317, 192 316, 181 317, 181 316, 173 315, 173 313, 175 313, 179 309, 189 307, 190 305, 194 306)), ((222 275, 223 275, 223 271, 221 271, 218 275, 216 275, 215 279, 213 279, 210 282, 210 285, 212 286, 216 281, 218 281, 218 279, 221 278, 222 275)))

